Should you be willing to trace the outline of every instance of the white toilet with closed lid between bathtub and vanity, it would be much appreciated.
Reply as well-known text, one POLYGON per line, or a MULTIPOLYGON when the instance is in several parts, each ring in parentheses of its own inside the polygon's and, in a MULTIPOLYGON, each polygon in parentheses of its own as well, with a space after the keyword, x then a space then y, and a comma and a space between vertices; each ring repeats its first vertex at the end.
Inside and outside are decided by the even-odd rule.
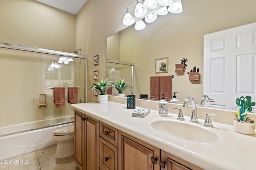
POLYGON ((60 127, 53 131, 52 141, 58 143, 56 158, 64 158, 74 154, 74 125, 60 127))

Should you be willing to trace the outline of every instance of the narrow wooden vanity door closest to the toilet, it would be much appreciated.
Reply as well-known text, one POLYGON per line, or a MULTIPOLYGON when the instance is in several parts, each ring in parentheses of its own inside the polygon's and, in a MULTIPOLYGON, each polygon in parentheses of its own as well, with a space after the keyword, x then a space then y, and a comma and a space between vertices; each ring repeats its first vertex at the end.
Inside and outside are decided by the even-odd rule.
POLYGON ((83 139, 84 139, 84 117, 83 114, 74 112, 74 161, 78 168, 82 170, 84 163, 83 139))

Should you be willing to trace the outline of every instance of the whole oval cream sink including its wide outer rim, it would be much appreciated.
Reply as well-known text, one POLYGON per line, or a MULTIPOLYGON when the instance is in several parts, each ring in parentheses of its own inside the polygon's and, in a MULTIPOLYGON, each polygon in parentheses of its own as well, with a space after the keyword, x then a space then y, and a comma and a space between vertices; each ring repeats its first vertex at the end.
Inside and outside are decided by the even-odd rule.
POLYGON ((204 127, 203 122, 191 123, 189 119, 179 121, 172 116, 149 117, 144 120, 144 125, 151 129, 154 137, 165 141, 182 139, 196 143, 222 143, 229 145, 238 141, 234 132, 218 127, 204 127), (164 136, 163 136, 164 135, 164 136))

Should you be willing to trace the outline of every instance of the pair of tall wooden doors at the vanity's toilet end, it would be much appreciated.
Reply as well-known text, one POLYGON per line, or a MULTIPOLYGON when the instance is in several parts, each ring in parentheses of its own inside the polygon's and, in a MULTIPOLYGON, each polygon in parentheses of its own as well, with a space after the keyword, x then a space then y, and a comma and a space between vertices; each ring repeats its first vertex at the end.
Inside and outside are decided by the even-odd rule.
POLYGON ((74 111, 74 161, 80 170, 98 170, 99 121, 74 111))

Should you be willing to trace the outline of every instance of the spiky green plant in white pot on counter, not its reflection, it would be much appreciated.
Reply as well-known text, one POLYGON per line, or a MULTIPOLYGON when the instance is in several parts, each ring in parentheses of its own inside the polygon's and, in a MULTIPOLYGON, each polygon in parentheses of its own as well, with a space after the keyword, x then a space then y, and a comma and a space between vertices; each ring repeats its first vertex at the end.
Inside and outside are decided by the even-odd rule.
POLYGON ((107 81, 108 78, 106 78, 106 80, 101 79, 98 80, 96 79, 98 82, 94 82, 90 85, 89 89, 92 90, 97 90, 99 92, 98 95, 98 103, 107 103, 108 102, 108 94, 106 94, 107 90, 109 88, 112 87, 112 85, 110 84, 110 81, 107 81))

